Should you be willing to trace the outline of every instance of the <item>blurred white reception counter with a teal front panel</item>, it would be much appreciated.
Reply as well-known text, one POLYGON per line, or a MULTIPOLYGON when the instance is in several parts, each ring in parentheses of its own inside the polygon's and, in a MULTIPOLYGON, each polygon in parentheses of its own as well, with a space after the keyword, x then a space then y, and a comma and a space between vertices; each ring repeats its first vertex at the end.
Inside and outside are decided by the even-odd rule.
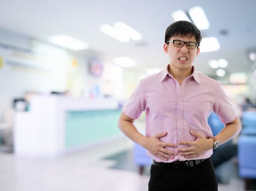
POLYGON ((121 110, 112 98, 37 96, 29 112, 17 112, 14 151, 18 156, 56 156, 122 136, 121 110))

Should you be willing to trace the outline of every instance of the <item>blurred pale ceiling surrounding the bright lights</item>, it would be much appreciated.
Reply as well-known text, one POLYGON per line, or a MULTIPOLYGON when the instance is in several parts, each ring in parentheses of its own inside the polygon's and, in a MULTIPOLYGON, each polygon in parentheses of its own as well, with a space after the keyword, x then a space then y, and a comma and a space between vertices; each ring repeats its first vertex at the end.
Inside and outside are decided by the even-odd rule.
POLYGON ((203 37, 216 37, 219 51, 200 53, 195 60, 197 70, 214 76, 209 59, 225 58, 227 73, 252 69, 248 51, 256 49, 256 1, 145 1, 145 0, 0 0, 0 28, 47 40, 56 34, 66 34, 83 40, 103 61, 127 56, 138 65, 133 68, 163 69, 168 57, 163 52, 164 33, 174 22, 171 13, 201 6, 210 22, 203 37), (101 25, 122 21, 139 31, 142 39, 121 43, 99 30, 101 25))

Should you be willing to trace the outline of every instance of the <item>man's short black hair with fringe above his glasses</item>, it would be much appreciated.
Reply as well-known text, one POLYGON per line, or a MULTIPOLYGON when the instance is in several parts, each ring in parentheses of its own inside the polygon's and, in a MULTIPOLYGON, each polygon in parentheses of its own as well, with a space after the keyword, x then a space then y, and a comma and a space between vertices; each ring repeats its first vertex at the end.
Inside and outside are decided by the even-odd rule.
POLYGON ((190 37, 193 35, 195 36, 196 43, 199 46, 202 40, 201 32, 193 23, 189 21, 177 21, 167 27, 164 43, 167 43, 167 41, 174 36, 180 35, 181 37, 184 37, 188 34, 191 35, 190 37))

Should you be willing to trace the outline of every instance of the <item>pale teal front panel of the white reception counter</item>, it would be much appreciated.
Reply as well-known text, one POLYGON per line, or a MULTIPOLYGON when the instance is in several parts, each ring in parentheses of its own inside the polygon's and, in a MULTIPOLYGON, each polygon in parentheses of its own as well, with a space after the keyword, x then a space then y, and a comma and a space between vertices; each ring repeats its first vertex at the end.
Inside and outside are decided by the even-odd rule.
POLYGON ((117 122, 121 110, 66 112, 65 147, 76 148, 122 135, 117 122))

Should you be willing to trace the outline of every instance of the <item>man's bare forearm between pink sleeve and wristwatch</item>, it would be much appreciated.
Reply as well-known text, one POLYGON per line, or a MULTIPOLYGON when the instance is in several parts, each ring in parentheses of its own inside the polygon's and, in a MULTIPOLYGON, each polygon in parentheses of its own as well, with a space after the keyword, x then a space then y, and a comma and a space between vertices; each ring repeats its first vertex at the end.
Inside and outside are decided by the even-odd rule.
POLYGON ((230 139, 235 138, 235 136, 238 135, 240 131, 241 131, 241 122, 237 117, 236 120, 234 120, 233 122, 225 124, 225 127, 216 136, 216 138, 219 140, 220 144, 224 144, 230 139))

